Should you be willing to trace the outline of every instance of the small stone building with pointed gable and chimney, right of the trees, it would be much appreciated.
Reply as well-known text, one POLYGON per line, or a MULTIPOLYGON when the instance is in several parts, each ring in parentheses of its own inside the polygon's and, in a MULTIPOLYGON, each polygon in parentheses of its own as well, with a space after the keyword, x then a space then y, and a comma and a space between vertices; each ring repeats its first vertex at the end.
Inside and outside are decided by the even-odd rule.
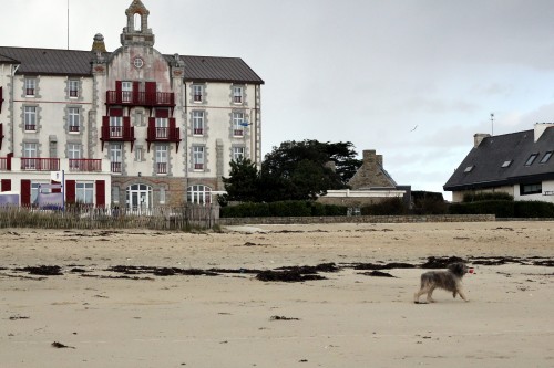
POLYGON ((348 182, 351 189, 328 190, 318 201, 327 204, 361 208, 389 198, 402 198, 410 206, 410 186, 399 186, 384 170, 382 155, 365 150, 363 161, 348 182))

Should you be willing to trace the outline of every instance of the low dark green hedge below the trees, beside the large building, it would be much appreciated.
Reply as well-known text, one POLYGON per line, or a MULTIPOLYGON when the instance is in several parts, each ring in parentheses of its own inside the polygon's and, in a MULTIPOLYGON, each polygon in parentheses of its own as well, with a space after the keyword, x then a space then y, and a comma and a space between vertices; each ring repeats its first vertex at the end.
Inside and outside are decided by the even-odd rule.
POLYGON ((322 204, 312 201, 280 201, 269 203, 242 203, 222 207, 222 218, 263 218, 263 217, 311 217, 346 215, 342 206, 322 204))

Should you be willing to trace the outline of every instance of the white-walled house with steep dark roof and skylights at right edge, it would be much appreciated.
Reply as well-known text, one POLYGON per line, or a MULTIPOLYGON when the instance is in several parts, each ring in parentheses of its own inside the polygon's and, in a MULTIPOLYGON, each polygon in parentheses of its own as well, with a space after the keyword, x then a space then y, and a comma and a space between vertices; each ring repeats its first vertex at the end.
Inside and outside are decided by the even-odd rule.
POLYGON ((454 202, 479 192, 554 202, 553 154, 554 123, 497 136, 475 134, 473 148, 443 188, 452 192, 454 202))

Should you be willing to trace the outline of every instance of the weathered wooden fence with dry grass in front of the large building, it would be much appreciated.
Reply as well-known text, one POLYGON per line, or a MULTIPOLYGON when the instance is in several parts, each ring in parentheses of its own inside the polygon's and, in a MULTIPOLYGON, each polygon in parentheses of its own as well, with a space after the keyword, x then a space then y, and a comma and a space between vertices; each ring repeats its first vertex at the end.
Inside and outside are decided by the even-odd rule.
POLYGON ((39 229, 151 229, 191 231, 218 225, 218 206, 183 206, 154 209, 83 208, 39 210, 0 207, 0 228, 39 229))

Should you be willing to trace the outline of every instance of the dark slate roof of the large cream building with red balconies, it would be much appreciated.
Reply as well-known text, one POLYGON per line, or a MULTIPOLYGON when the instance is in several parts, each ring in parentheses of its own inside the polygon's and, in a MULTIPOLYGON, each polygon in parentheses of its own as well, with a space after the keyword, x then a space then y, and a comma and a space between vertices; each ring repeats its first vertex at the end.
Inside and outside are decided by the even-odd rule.
MULTIPOLYGON (((110 57, 111 53, 105 54, 110 57)), ((92 76, 92 51, 0 46, 0 63, 20 64, 17 74, 92 76)), ((173 55, 164 55, 166 60, 173 55)), ((264 84, 239 57, 181 56, 185 81, 264 84)))

